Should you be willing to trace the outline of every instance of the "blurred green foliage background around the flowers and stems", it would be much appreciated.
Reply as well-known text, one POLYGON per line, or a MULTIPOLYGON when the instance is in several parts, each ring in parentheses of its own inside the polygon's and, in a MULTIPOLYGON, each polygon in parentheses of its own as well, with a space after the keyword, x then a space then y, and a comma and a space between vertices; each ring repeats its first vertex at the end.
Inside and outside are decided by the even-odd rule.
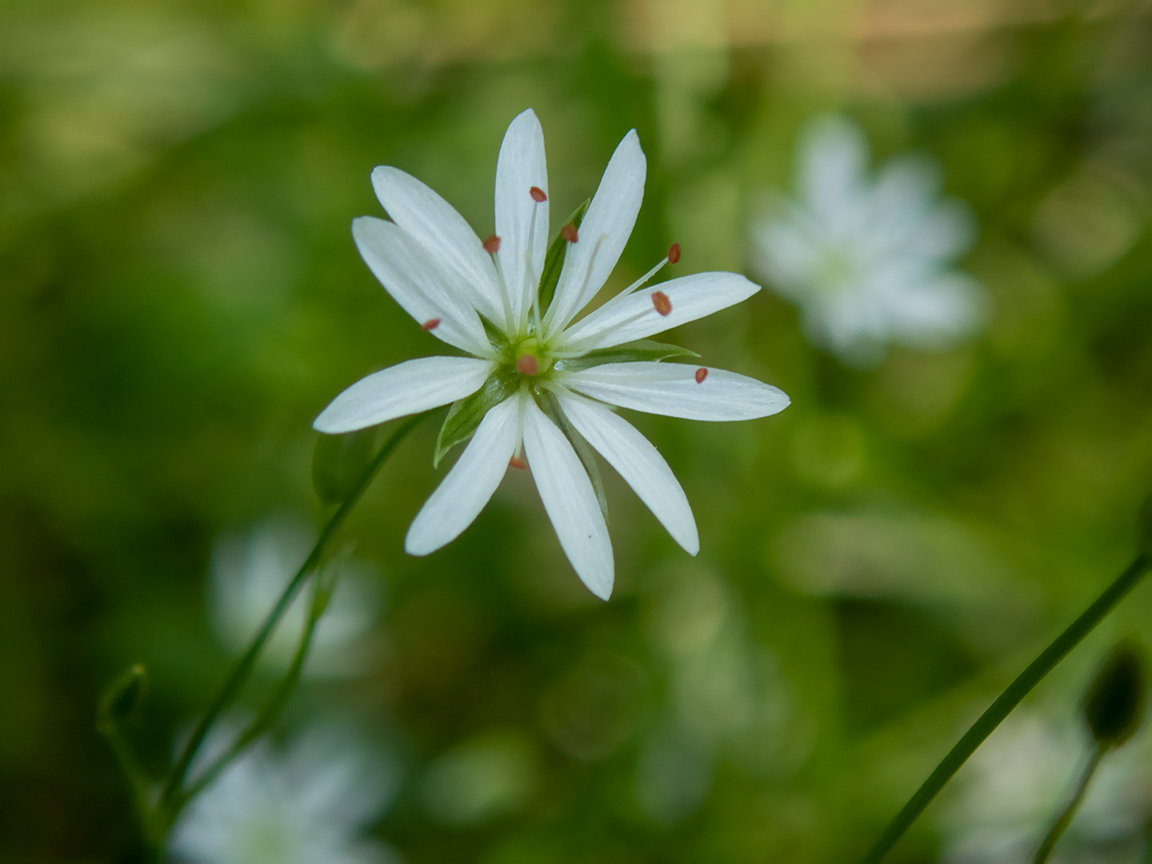
MULTIPOLYGON (((395 756, 372 833, 406 861, 852 861, 1131 560, 1152 492, 1146 2, 6 0, 0 861, 139 861, 103 687, 146 666, 131 733, 159 776, 230 662, 213 545, 282 513, 319 524, 313 417, 440 353, 351 242, 353 218, 384 215, 372 167, 487 236, 526 107, 553 225, 639 134, 644 206, 609 291, 672 242, 674 274, 765 281, 758 197, 791 194, 797 136, 838 112, 873 167, 939 162, 988 311, 957 346, 866 369, 811 346, 770 288, 674 332, 793 404, 738 424, 626 412, 680 478, 700 553, 606 469, 607 604, 525 472, 407 556, 445 470, 439 415, 423 424, 341 533, 385 597, 370 672, 305 682, 281 723, 335 714, 395 756)), ((1146 647, 1150 621, 1143 586, 1021 718, 1075 730, 1092 669, 1121 636, 1146 647)), ((1147 737, 1108 760, 1136 780, 1105 809, 1136 816, 1074 823, 1063 861, 1146 859, 1147 737)), ((999 767, 1044 767, 1059 801, 1084 758, 1067 742, 999 767)), ((955 857, 987 829, 961 803, 976 771, 890 861, 999 861, 955 857)), ((1038 841, 1051 816, 1020 829, 1038 841)))

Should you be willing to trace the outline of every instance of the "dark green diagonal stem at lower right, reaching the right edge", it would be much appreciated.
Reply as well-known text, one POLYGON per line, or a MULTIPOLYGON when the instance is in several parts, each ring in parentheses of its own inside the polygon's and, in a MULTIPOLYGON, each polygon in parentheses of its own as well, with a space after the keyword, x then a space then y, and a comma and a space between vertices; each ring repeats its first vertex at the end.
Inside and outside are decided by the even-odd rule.
POLYGON ((1079 617, 1068 626, 1068 629, 1060 634, 1040 655, 1037 657, 1028 668, 1024 669, 1013 681, 1007 689, 996 697, 996 700, 988 706, 988 710, 980 714, 980 718, 972 723, 968 732, 956 742, 955 746, 948 751, 935 770, 929 774, 927 780, 920 785, 908 803, 901 808, 885 828, 884 834, 876 841, 876 844, 864 856, 864 864, 878 864, 884 859, 896 841, 904 835, 909 826, 924 812, 924 809, 943 788, 960 766, 968 761, 968 758, 976 752, 976 748, 984 743, 984 740, 992 734, 1010 714, 1017 705, 1031 692, 1044 677, 1055 668, 1056 664, 1064 659, 1079 642, 1087 636, 1097 624, 1120 602, 1124 596, 1131 591, 1143 578, 1149 569, 1149 558, 1139 554, 1136 560, 1128 566, 1120 576, 1108 588, 1104 590, 1091 606, 1081 613, 1079 617))

